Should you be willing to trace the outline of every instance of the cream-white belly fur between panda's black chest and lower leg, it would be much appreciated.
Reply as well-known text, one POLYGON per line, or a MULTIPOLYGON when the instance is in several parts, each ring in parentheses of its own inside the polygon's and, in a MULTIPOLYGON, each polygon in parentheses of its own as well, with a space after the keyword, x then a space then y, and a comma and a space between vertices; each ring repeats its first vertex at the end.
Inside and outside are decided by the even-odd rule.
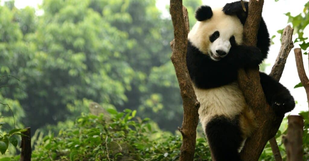
POLYGON ((237 82, 212 89, 194 87, 194 91, 201 104, 198 114, 204 131, 206 124, 215 115, 224 115, 234 119, 247 107, 237 82))

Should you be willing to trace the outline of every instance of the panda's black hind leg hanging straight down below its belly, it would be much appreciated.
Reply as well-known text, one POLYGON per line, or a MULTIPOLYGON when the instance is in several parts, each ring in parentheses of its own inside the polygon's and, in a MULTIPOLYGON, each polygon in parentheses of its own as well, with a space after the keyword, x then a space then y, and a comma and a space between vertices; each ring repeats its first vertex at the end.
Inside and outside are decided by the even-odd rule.
POLYGON ((206 135, 211 154, 216 161, 240 161, 238 149, 243 142, 238 119, 231 120, 224 116, 212 118, 207 123, 206 135))

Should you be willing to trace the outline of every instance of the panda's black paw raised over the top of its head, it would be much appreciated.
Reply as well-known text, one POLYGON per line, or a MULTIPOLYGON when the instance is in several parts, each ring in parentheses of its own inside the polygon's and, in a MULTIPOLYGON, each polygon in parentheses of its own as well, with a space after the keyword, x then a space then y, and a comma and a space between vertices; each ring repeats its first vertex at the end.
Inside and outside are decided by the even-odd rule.
POLYGON ((248 4, 249 2, 244 1, 243 2, 246 8, 246 11, 243 10, 243 6, 240 1, 232 2, 232 3, 226 3, 226 5, 223 7, 223 12, 227 15, 237 15, 237 17, 240 19, 241 23, 244 24, 246 22, 246 19, 248 17, 248 4))

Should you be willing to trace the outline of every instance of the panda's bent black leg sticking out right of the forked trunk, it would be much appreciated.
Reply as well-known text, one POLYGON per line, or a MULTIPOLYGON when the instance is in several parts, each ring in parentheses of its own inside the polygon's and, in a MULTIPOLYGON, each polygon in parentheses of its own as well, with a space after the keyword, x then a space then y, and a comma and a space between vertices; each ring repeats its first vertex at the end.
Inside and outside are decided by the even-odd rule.
POLYGON ((260 72, 260 81, 266 100, 277 114, 285 114, 295 107, 290 91, 271 76, 260 72))

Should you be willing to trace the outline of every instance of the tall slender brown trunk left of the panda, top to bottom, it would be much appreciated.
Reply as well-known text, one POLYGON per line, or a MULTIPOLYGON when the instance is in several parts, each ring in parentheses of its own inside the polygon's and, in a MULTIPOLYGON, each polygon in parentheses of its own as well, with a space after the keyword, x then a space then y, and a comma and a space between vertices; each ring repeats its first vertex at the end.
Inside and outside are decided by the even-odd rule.
POLYGON ((189 20, 187 9, 182 6, 182 0, 170 1, 170 14, 174 26, 174 40, 171 42, 171 61, 179 82, 184 108, 182 127, 179 128, 183 137, 179 160, 190 161, 193 160, 194 156, 200 103, 194 93, 186 65, 189 20))

